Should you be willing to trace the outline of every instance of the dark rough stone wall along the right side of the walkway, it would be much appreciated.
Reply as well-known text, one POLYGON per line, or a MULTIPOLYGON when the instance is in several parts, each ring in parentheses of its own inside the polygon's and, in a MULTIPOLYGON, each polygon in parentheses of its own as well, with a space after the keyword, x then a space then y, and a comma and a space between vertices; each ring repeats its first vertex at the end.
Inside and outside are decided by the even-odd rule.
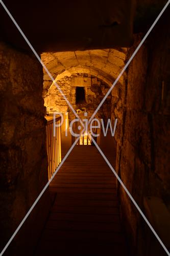
MULTIPOLYGON (((166 13, 132 60, 123 87, 112 92, 112 118, 118 118, 116 170, 144 213, 144 197, 158 197, 167 208, 170 203, 169 32, 166 13)), ((135 36, 127 59, 142 36, 135 36)), ((157 240, 154 247, 158 254, 149 252, 151 243, 147 241, 152 232, 124 189, 117 186, 132 255, 164 255, 157 240)))

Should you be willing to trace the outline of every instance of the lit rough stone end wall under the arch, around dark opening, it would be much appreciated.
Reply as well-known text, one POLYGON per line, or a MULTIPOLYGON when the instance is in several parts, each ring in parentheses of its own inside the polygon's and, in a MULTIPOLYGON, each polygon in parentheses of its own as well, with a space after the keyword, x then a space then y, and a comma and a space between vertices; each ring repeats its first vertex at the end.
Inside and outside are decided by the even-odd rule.
MULTIPOLYGON (((94 112, 109 89, 107 83, 88 74, 75 74, 70 77, 66 76, 56 82, 75 110, 86 108, 86 111, 90 112, 94 112), (76 104, 77 86, 84 87, 86 103, 76 104)), ((48 92, 44 97, 44 105, 49 114, 55 111, 62 113, 70 111, 67 102, 64 100, 55 84, 52 84, 50 89, 48 89, 48 92)), ((111 117, 110 95, 106 99, 99 113, 101 113, 100 115, 104 120, 111 117)))

